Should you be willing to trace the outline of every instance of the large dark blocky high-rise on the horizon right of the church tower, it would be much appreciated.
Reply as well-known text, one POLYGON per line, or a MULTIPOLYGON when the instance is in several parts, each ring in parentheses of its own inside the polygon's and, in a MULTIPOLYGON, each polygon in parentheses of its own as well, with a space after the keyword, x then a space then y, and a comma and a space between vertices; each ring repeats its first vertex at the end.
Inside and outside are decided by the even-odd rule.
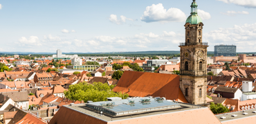
POLYGON ((236 45, 215 45, 214 56, 237 56, 236 45))

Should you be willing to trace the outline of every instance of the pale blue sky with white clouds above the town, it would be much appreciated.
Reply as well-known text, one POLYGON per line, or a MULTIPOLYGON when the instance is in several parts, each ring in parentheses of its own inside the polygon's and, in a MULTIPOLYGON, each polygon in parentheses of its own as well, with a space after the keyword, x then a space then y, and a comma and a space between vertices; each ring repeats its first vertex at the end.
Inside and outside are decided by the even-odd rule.
MULTIPOLYGON (((203 42, 256 52, 255 0, 196 0, 203 42)), ((0 52, 179 51, 192 0, 0 0, 0 52)))

